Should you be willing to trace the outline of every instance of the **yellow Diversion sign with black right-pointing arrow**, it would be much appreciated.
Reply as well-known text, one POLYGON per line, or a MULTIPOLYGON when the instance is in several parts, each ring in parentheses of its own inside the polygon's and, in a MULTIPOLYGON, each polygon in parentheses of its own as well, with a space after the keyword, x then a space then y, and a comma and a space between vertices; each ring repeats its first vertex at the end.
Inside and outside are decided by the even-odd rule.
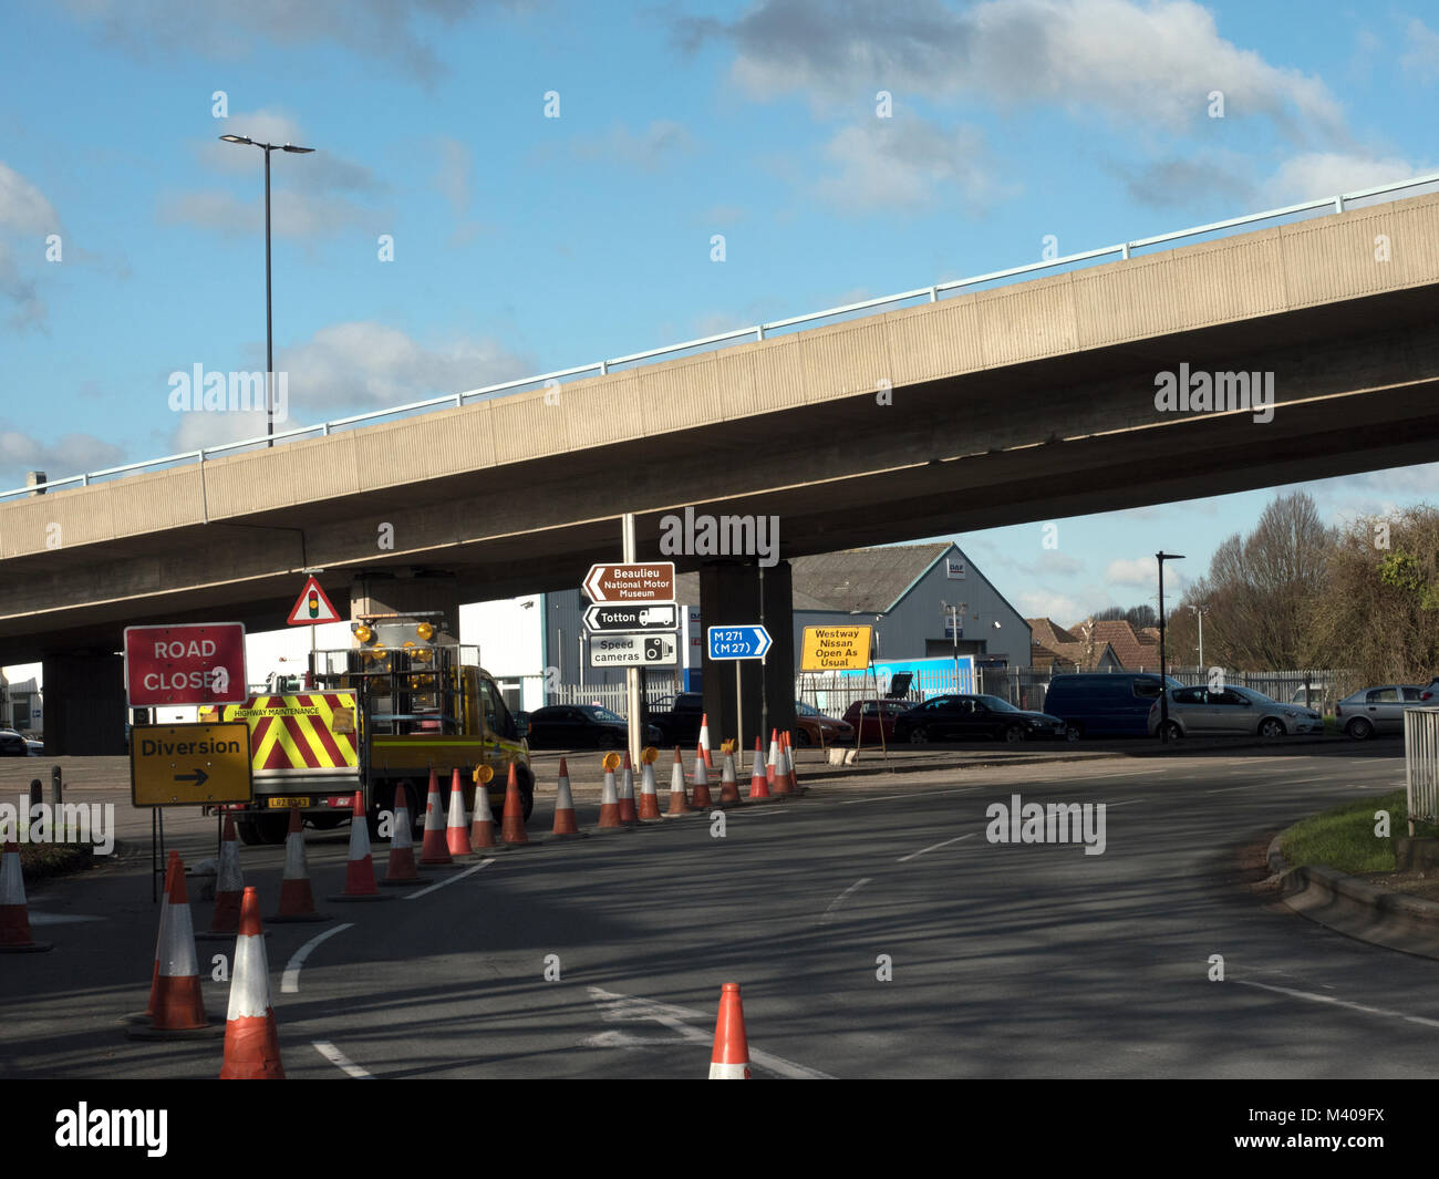
POLYGON ((137 724, 130 731, 130 798, 135 806, 249 802, 250 727, 137 724))

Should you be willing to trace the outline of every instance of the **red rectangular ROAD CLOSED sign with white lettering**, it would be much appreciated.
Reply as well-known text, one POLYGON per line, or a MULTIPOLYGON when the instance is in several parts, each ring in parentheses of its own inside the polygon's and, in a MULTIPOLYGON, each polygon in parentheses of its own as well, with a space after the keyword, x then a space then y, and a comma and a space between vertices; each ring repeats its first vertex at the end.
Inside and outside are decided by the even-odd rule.
POLYGON ((243 701, 245 623, 127 626, 125 694, 131 708, 243 701))

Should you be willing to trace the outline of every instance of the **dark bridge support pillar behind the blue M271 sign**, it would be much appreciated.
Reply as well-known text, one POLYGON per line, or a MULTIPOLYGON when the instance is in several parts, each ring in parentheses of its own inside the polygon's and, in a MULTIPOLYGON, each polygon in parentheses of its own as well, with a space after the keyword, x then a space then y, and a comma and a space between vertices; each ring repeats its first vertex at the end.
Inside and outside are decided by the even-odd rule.
MULTIPOLYGON (((709 714, 709 738, 740 737, 740 749, 754 751, 754 738, 770 750, 770 730, 794 726, 794 600, 790 563, 761 569, 750 561, 708 561, 699 569, 699 616, 705 628, 761 623, 773 645, 758 659, 740 659, 740 697, 744 701, 744 733, 734 685, 734 659, 711 659, 709 643, 702 641, 705 713, 709 714)), ((738 763, 737 763, 738 770, 738 763)), ((743 774, 740 774, 743 777, 743 774)))

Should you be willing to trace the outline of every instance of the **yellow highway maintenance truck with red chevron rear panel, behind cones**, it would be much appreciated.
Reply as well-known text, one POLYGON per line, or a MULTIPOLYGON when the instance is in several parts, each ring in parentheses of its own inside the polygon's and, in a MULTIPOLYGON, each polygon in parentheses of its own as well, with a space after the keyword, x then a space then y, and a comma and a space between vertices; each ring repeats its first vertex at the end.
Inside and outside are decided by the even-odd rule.
POLYGON ((403 790, 410 816, 425 821, 433 769, 449 805, 452 772, 460 772, 466 813, 478 777, 489 767, 495 821, 505 805, 509 763, 524 800, 534 808, 530 749, 515 728, 479 652, 437 641, 437 615, 366 615, 350 625, 354 645, 315 652, 305 687, 258 694, 243 704, 201 710, 201 720, 243 720, 250 727, 255 798, 235 812, 246 844, 282 844, 289 806, 315 828, 340 826, 364 792, 373 829, 403 790))

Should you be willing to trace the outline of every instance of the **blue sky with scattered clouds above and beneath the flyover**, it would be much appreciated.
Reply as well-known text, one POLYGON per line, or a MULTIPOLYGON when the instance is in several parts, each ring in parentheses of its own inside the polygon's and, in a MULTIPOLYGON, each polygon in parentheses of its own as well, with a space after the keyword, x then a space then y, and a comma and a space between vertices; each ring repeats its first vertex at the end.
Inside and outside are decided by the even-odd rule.
MULTIPOLYGON (((220 134, 317 148, 273 158, 308 423, 1433 171, 1436 83, 1416 0, 17 0, 0 488, 263 432, 168 405, 173 371, 263 369, 262 153, 220 134)), ((1435 474, 1311 491, 1337 520, 1435 474)), ((1160 547, 1203 573, 1269 495, 957 540, 1072 623, 1151 599, 1160 547)))

